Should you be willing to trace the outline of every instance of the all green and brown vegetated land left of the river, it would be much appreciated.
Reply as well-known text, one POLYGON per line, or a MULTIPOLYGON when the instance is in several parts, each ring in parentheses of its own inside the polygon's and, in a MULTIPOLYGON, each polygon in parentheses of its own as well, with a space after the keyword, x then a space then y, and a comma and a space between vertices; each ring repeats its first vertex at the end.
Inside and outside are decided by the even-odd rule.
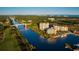
POLYGON ((0 51, 27 51, 35 47, 20 34, 20 32, 10 25, 12 22, 7 16, 0 16, 0 51), (9 21, 9 22, 8 22, 9 21))

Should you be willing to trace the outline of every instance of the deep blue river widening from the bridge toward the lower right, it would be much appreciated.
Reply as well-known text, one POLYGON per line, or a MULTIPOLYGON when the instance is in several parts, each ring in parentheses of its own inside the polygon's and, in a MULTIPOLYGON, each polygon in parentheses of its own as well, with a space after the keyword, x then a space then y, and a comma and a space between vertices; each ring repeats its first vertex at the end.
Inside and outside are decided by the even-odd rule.
POLYGON ((79 37, 69 34, 65 38, 58 38, 56 42, 49 43, 47 39, 40 37, 31 29, 26 30, 23 25, 19 25, 18 30, 30 44, 36 47, 35 50, 37 51, 72 51, 65 48, 65 43, 74 46, 74 44, 79 42, 79 37))

